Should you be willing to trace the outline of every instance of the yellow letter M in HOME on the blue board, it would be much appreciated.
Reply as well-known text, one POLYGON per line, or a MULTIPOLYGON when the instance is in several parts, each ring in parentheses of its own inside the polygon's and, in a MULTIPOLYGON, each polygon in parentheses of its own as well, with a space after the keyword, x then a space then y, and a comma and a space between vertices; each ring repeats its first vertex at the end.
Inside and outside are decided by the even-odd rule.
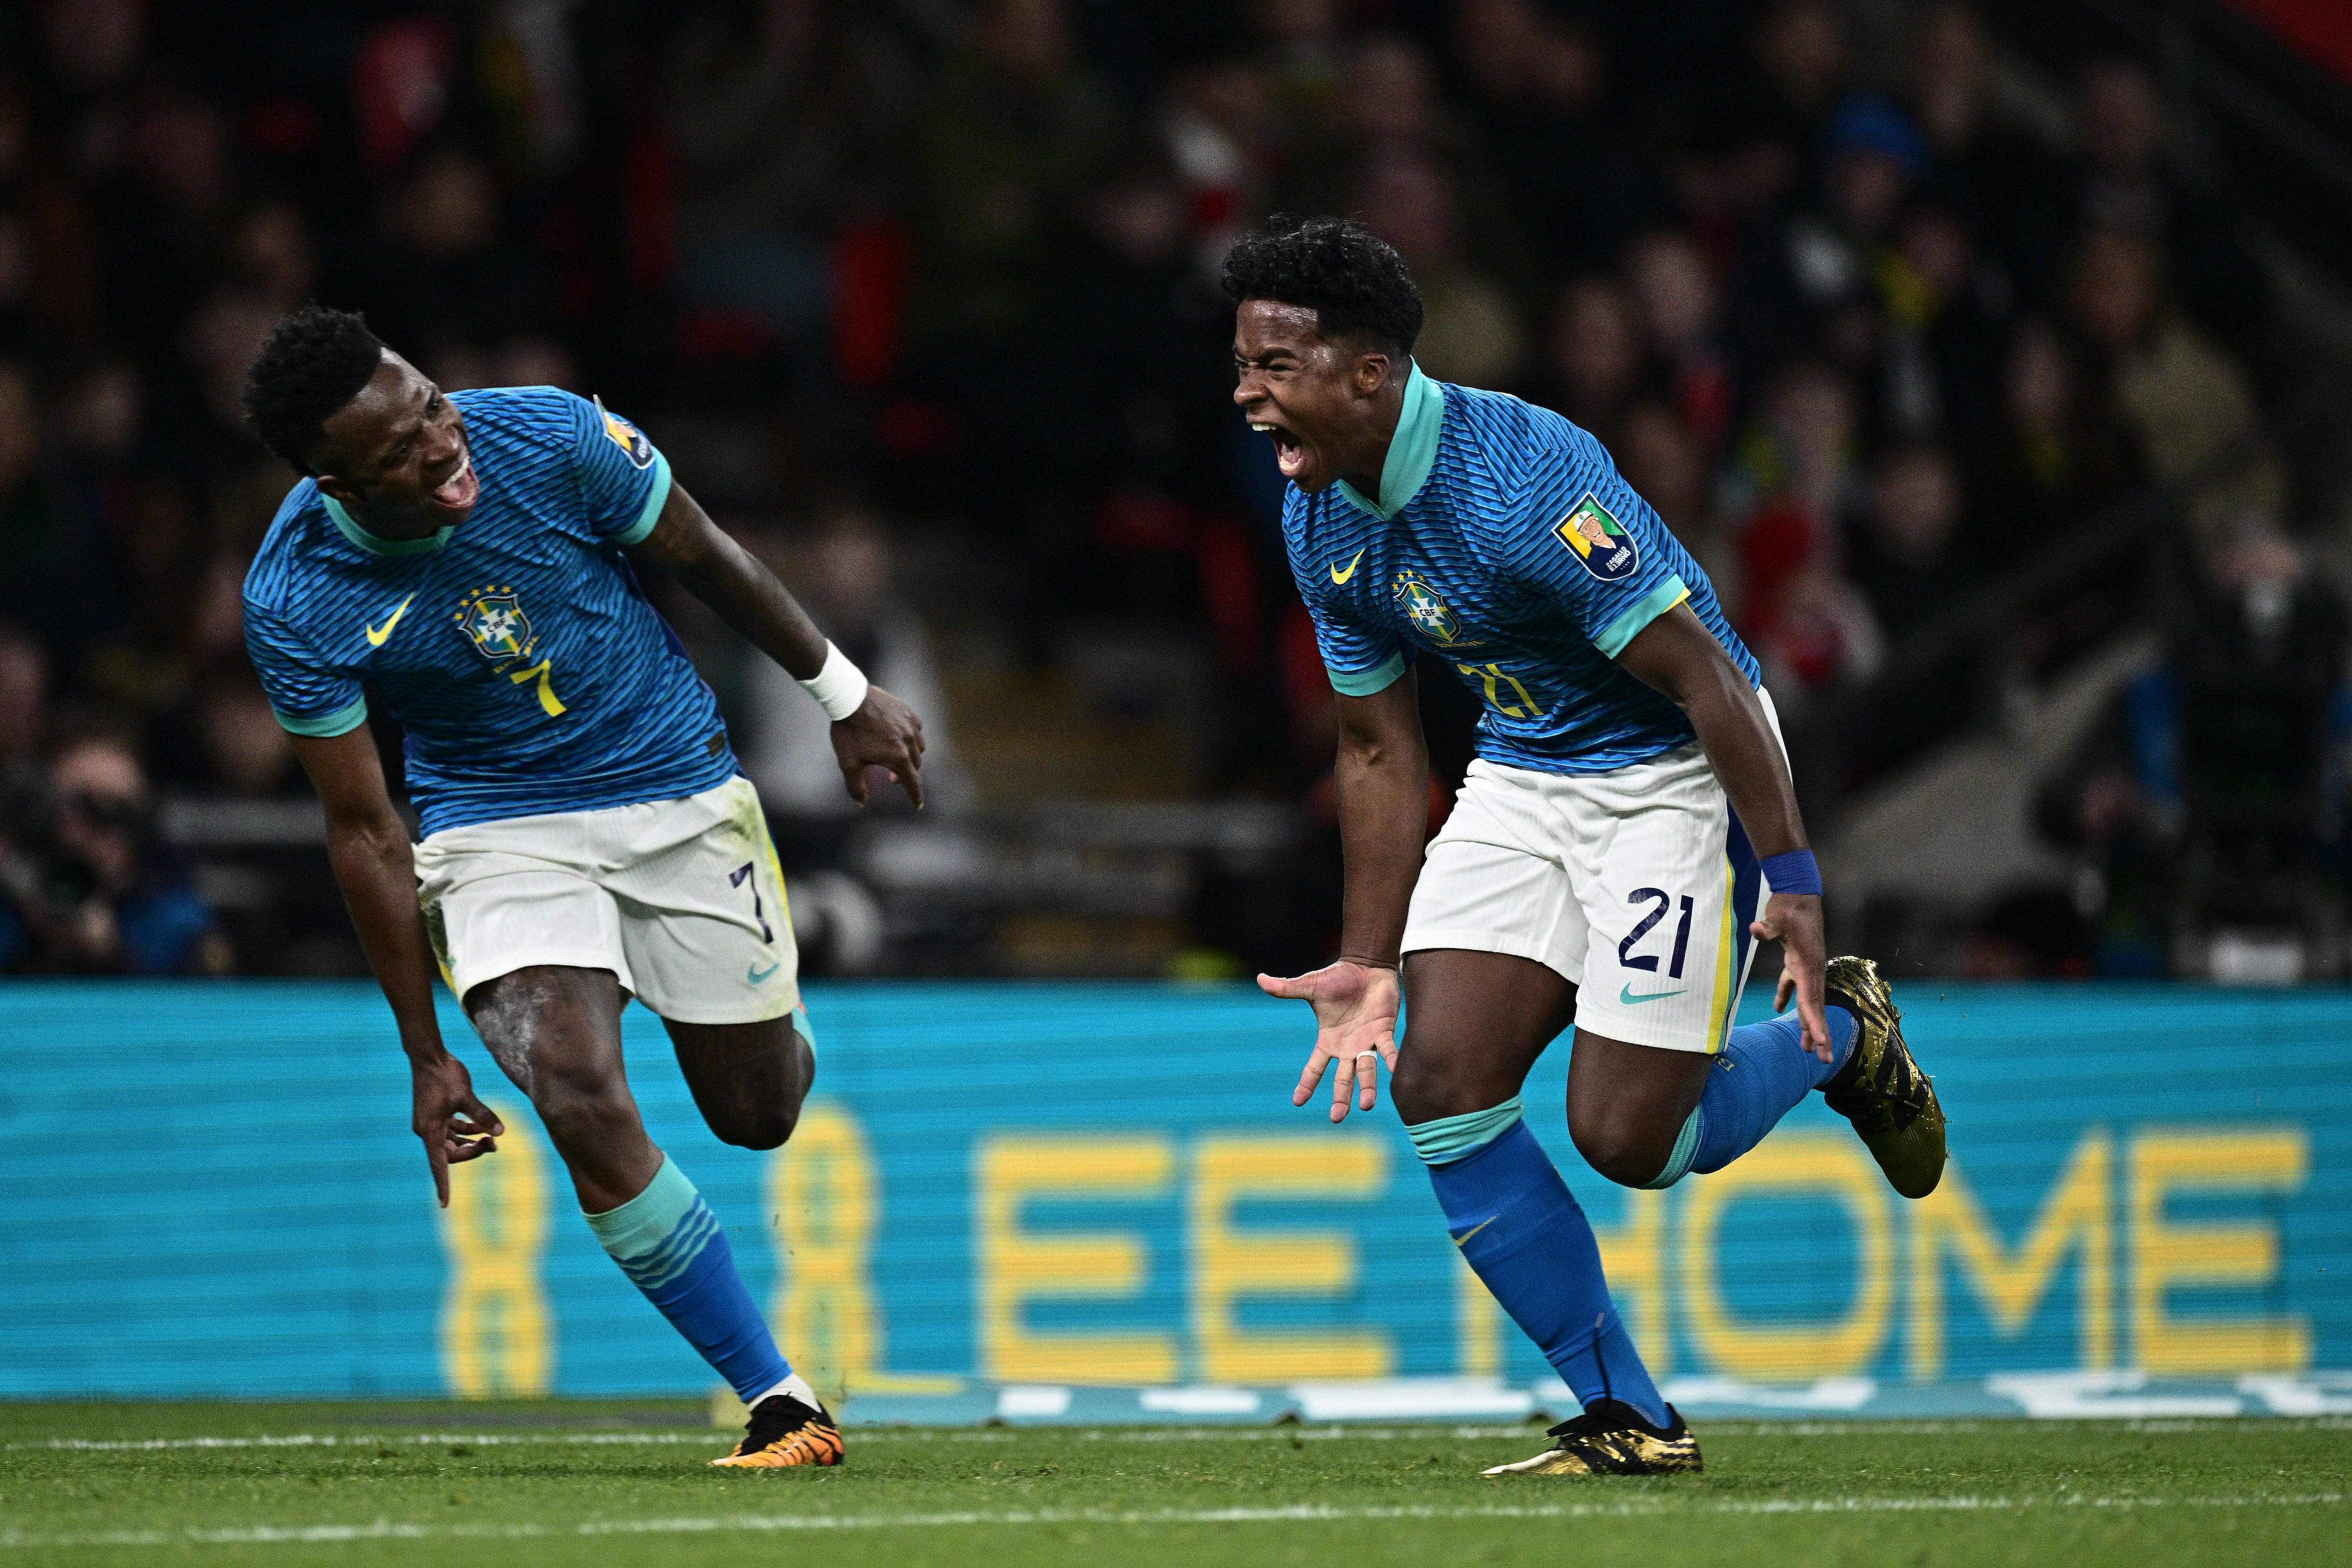
POLYGON ((1943 1185, 1910 1206, 1912 1215, 1912 1319, 1910 1375, 1943 1378, 1943 1258, 1959 1262, 1962 1279, 1992 1314, 2002 1338, 2032 1324, 2042 1295, 2067 1251, 2082 1253, 2074 1286, 2074 1338, 2084 1366, 2114 1366, 2114 1229, 2107 1192, 2114 1182, 2114 1140, 2093 1126, 2074 1145, 2065 1173, 2042 1201, 2032 1229, 2011 1253, 1985 1218, 1959 1161, 1943 1168, 1943 1185))

